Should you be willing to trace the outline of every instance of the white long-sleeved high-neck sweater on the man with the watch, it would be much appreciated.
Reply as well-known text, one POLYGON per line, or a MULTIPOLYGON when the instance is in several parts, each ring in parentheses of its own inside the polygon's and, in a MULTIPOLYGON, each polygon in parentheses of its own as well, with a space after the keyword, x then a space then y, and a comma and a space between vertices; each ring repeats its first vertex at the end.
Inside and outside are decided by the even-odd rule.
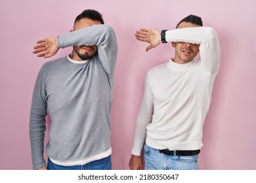
POLYGON ((203 123, 219 71, 220 47, 211 27, 166 31, 168 42, 200 44, 200 59, 172 61, 150 69, 137 117, 132 154, 140 156, 144 141, 152 148, 197 150, 203 146, 203 123))

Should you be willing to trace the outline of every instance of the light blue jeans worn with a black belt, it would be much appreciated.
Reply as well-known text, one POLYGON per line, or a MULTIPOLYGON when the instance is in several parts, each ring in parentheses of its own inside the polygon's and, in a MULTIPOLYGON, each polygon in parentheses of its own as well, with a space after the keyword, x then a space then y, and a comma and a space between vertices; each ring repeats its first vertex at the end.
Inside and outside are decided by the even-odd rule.
POLYGON ((198 156, 170 156, 145 144, 146 170, 198 170, 198 156))

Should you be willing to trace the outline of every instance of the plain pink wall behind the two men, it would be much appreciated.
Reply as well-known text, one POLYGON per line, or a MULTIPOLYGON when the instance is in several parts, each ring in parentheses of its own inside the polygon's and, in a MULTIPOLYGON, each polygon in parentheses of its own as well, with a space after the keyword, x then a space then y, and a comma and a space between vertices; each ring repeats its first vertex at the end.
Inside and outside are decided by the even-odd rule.
MULTIPOLYGON (((0 0, 0 169, 32 169, 28 124, 35 78, 50 59, 32 54, 38 39, 66 33, 86 8, 116 30, 119 54, 112 106, 113 169, 128 169, 146 71, 173 56, 171 44, 145 52, 140 27, 173 29, 188 14, 214 27, 221 68, 204 126, 200 169, 256 169, 255 0, 0 0)), ((55 56, 66 56, 72 48, 55 56)), ((48 118, 49 119, 49 118, 48 118)))

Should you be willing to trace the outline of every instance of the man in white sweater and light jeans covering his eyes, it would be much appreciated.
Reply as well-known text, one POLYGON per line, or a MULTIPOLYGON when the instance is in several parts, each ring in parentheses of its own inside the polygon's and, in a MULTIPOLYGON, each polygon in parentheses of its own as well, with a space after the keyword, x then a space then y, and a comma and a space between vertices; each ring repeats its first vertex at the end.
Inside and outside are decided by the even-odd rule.
POLYGON ((150 43, 146 51, 171 42, 175 56, 146 75, 130 169, 143 169, 143 146, 145 169, 199 169, 203 123, 220 59, 217 33, 202 26, 200 17, 190 15, 177 29, 137 31, 139 41, 150 43))

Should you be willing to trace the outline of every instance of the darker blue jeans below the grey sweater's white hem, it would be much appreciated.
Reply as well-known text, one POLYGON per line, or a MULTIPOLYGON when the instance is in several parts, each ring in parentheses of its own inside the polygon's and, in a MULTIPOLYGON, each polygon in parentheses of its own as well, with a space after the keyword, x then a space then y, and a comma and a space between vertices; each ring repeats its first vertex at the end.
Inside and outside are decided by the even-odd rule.
POLYGON ((106 158, 98 159, 96 161, 91 161, 85 165, 75 165, 75 166, 62 166, 54 164, 50 158, 48 158, 48 170, 111 170, 111 156, 106 158))

